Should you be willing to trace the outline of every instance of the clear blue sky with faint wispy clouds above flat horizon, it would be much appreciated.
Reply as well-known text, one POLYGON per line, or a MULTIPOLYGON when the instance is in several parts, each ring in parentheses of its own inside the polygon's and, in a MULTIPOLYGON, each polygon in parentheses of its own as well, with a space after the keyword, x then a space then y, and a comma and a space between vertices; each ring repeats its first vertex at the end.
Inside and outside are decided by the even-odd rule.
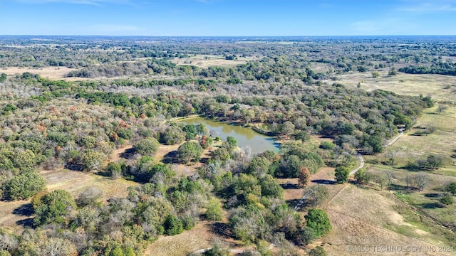
POLYGON ((0 35, 456 35, 456 0, 0 0, 0 35))

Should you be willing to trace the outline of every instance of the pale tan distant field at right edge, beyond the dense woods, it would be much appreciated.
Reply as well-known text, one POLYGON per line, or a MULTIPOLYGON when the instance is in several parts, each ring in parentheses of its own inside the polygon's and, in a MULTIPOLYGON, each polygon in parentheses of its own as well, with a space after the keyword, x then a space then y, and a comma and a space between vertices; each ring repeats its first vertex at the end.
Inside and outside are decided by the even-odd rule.
POLYGON ((356 87, 361 82, 364 90, 389 90, 400 95, 423 96, 431 95, 437 101, 451 101, 456 99, 455 78, 450 75, 413 75, 398 73, 388 76, 388 70, 378 70, 380 78, 373 78, 371 72, 351 72, 345 75, 336 75, 337 81, 326 80, 329 84, 340 82, 343 85, 356 87), (364 82, 362 82, 364 81, 364 82), (445 89, 445 87, 450 88, 445 89))

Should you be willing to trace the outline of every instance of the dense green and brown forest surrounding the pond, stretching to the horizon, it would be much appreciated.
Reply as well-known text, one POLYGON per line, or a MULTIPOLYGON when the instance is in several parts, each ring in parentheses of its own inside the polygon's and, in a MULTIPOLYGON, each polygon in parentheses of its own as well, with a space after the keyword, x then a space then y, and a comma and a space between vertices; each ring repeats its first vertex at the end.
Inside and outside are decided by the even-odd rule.
MULTIPOLYGON (((160 235, 222 220, 223 212, 233 238, 260 252, 274 243, 294 254, 291 245, 331 231, 318 208, 325 188, 312 191, 303 218, 276 178, 299 178, 305 187, 323 166, 378 154, 398 125, 410 129, 434 104, 430 96, 346 87, 336 74, 395 75, 400 66, 403 73, 455 75, 442 55, 456 55, 445 38, 0 37, 0 68, 37 70, 0 77, 0 197, 31 200, 34 214, 20 234, 0 227, 0 255, 55 248, 56 255, 142 255, 160 235), (244 62, 190 63, 197 55, 244 62), (72 69, 67 78, 90 79, 39 75, 59 67, 72 69), (204 125, 173 122, 193 114, 252 127, 280 139, 281 149, 252 156, 232 137, 220 142, 204 125), (316 146, 311 135, 333 143, 316 146), (110 159, 127 145, 129 154, 110 159), (164 145, 180 145, 175 163, 154 159, 164 145), (211 159, 178 174, 175 164, 199 163, 209 147, 211 159), (137 186, 105 202, 96 188, 78 196, 48 191, 41 171, 62 168, 137 186)), ((217 255, 212 249, 207 255, 217 255)))

